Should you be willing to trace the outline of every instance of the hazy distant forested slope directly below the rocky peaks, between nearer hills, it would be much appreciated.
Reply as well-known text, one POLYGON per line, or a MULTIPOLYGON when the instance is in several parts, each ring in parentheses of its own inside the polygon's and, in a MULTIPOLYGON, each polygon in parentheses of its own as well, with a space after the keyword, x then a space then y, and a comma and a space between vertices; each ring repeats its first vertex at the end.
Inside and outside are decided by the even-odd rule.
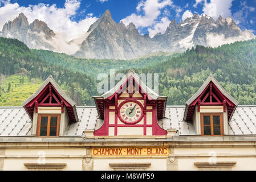
POLYGON ((31 52, 48 63, 68 68, 71 71, 87 73, 93 77, 97 77, 99 73, 109 73, 109 69, 119 71, 131 68, 147 68, 178 55, 178 53, 156 52, 132 60, 97 60, 81 59, 74 56, 68 56, 65 53, 56 53, 46 50, 31 49, 31 52))

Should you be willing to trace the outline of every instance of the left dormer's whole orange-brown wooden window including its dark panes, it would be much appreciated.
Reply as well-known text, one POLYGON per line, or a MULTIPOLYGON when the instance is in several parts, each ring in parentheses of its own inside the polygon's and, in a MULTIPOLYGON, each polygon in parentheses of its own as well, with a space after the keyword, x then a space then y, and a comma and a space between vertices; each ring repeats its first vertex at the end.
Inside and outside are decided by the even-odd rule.
POLYGON ((38 137, 59 136, 60 114, 38 114, 38 137))

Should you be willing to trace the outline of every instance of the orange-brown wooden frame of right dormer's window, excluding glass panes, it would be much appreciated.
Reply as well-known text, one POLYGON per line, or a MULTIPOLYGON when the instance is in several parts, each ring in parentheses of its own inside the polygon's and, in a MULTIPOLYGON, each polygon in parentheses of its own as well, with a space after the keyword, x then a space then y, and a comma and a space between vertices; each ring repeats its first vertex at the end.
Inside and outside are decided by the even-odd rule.
POLYGON ((201 136, 224 136, 224 121, 223 121, 223 113, 200 113, 200 122, 201 122, 201 136), (204 134, 204 116, 210 116, 210 130, 211 134, 210 135, 205 135, 204 134), (220 135, 214 135, 213 131, 213 116, 217 115, 220 116, 220 135))

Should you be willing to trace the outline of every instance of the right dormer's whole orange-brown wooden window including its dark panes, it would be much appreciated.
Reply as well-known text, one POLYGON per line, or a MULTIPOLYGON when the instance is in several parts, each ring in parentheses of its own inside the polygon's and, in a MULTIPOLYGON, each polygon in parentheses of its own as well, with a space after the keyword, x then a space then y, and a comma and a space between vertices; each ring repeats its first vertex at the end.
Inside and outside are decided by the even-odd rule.
POLYGON ((223 135, 222 113, 201 113, 201 135, 221 136, 223 135))

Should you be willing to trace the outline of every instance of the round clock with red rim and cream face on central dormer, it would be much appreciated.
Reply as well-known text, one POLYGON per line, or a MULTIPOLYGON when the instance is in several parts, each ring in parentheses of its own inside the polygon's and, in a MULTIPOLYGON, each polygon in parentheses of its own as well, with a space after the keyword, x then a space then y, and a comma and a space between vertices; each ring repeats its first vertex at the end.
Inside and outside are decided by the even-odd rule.
POLYGON ((143 106, 137 101, 123 101, 119 105, 118 117, 125 124, 140 122, 143 118, 143 106))

